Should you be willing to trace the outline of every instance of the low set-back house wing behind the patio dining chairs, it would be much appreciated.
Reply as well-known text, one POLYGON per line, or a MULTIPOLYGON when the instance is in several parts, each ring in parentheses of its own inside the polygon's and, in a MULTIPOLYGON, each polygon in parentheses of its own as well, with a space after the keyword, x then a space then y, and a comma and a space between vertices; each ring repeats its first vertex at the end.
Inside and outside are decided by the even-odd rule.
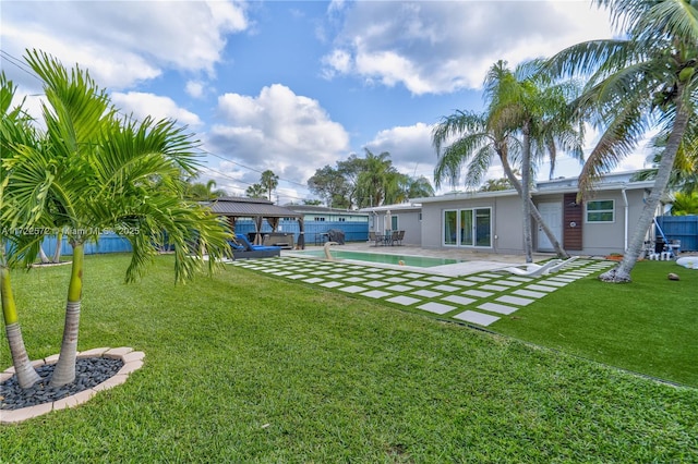
POLYGON ((363 208, 369 213, 369 231, 385 233, 386 231, 405 231, 402 244, 422 244, 422 207, 413 203, 375 206, 363 208))

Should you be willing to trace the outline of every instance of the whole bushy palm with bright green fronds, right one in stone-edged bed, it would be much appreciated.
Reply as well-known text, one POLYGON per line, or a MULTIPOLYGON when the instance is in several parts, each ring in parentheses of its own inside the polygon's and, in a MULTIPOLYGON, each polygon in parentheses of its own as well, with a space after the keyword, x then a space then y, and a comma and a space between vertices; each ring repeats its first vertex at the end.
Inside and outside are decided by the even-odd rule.
MULTIPOLYGON (((46 143, 17 146, 7 163, 15 208, 29 224, 65 227, 73 247, 65 326, 52 386, 75 378, 84 247, 104 230, 131 242, 127 281, 143 273, 167 240, 174 245, 176 281, 229 252, 229 233, 195 203, 182 200, 182 172, 194 174, 196 142, 171 121, 119 120, 103 89, 80 68, 68 71, 37 51, 26 61, 44 81, 46 143), (203 254, 209 255, 204 260, 203 254)), ((10 190, 9 190, 10 191, 10 190)))

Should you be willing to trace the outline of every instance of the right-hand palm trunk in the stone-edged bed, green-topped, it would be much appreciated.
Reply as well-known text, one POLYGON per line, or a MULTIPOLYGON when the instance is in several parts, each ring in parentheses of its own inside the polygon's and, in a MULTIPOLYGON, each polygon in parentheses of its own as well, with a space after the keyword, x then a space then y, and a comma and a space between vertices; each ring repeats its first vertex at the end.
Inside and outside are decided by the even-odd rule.
POLYGON ((65 326, 63 342, 58 363, 51 376, 51 387, 61 387, 75 380, 75 362, 77 358, 77 333, 80 328, 80 307, 83 293, 84 243, 72 243, 73 265, 68 285, 68 302, 65 303, 65 326))

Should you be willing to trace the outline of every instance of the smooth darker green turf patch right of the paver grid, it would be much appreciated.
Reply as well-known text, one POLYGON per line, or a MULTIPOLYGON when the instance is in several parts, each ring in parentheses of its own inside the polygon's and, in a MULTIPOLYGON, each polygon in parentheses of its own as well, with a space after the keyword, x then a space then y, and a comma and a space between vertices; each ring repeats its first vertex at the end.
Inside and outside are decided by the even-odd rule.
POLYGON ((595 278, 558 289, 491 326, 501 333, 698 387, 698 272, 639 261, 631 284, 595 278), (679 281, 666 278, 679 274, 679 281))

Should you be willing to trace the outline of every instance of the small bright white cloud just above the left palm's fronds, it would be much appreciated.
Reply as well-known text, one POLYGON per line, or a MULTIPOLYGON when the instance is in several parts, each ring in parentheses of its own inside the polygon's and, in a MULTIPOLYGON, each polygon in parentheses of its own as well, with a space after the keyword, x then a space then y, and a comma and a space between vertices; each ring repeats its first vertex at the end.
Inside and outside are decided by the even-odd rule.
POLYGON ((192 127, 202 125, 202 121, 196 114, 178 107, 169 97, 129 91, 128 94, 111 94, 111 100, 121 113, 133 114, 141 121, 151 115, 156 120, 174 119, 179 124, 192 127))

